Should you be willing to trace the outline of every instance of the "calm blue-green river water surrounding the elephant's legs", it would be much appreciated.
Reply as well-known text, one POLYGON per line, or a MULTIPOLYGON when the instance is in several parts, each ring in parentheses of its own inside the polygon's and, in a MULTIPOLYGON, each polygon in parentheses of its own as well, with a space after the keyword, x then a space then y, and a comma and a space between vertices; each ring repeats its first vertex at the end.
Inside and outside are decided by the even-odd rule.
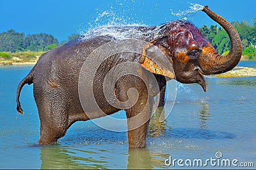
MULTIPOLYGON (((256 67, 256 62, 241 61, 239 66, 256 67)), ((33 86, 22 89, 24 115, 17 113, 15 103, 17 84, 31 68, 0 66, 1 169, 189 168, 177 162, 166 166, 164 161, 170 157, 192 162, 200 158, 203 163, 211 158, 237 159, 237 165, 253 162, 256 166, 256 77, 207 77, 206 93, 197 84, 178 83, 168 118, 160 123, 156 112, 146 148, 129 150, 126 132, 104 130, 92 121, 72 125, 58 144, 38 146, 39 118, 33 86), (217 158, 216 152, 222 157, 217 158)), ((124 112, 118 114, 125 116, 124 112)), ((209 163, 200 168, 218 167, 221 165, 209 163)))

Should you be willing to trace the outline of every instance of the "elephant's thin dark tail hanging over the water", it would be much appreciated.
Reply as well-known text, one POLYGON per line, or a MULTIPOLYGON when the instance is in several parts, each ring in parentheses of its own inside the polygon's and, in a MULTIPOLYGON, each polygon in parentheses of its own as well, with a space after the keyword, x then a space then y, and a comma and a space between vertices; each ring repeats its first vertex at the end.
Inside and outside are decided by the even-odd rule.
POLYGON ((17 102, 17 111, 20 112, 20 114, 24 114, 23 110, 20 107, 20 91, 23 88, 23 86, 25 84, 32 84, 33 83, 33 77, 34 77, 34 72, 35 72, 35 67, 34 66, 32 68, 32 70, 28 73, 28 75, 22 80, 20 81, 18 88, 17 88, 17 92, 16 92, 16 102, 17 102))

